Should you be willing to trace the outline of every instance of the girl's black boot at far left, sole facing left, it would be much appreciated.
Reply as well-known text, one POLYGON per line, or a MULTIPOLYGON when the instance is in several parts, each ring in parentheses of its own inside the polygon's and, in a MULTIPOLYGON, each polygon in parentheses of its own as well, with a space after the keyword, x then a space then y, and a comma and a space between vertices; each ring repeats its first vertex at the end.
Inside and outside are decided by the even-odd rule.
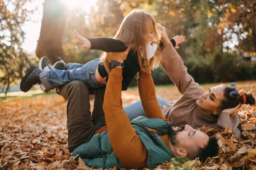
POLYGON ((40 83, 40 73, 41 71, 38 69, 38 67, 32 65, 26 75, 21 79, 20 82, 20 90, 23 92, 27 92, 31 89, 31 87, 37 83, 40 83))

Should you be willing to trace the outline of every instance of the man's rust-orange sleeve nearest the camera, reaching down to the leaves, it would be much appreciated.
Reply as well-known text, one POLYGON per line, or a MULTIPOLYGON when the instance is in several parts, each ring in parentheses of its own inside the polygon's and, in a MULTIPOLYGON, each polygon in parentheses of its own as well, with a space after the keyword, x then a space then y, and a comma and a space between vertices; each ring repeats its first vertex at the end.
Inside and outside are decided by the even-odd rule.
POLYGON ((111 146, 125 168, 147 165, 147 150, 133 129, 122 107, 122 68, 113 68, 108 76, 103 110, 111 146))

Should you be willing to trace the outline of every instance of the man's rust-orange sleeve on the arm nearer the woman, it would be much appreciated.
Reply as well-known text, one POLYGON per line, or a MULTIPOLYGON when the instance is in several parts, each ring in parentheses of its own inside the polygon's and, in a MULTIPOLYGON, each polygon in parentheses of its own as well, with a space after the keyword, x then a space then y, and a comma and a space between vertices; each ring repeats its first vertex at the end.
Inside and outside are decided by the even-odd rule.
POLYGON ((165 119, 161 107, 156 100, 156 90, 150 70, 140 70, 138 72, 137 81, 141 103, 146 116, 167 120, 165 119))

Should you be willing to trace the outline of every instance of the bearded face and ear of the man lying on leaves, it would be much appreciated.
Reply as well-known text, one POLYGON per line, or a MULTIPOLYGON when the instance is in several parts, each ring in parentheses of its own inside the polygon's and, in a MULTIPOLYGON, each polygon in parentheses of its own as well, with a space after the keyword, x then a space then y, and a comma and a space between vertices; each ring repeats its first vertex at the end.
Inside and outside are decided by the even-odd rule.
POLYGON ((177 153, 182 150, 186 151, 185 155, 190 153, 197 153, 198 148, 205 148, 209 141, 209 136, 200 130, 195 130, 189 125, 185 125, 182 128, 176 127, 173 128, 173 132, 170 132, 169 135, 170 142, 177 148, 177 153), (181 150, 179 150, 181 149, 181 150))

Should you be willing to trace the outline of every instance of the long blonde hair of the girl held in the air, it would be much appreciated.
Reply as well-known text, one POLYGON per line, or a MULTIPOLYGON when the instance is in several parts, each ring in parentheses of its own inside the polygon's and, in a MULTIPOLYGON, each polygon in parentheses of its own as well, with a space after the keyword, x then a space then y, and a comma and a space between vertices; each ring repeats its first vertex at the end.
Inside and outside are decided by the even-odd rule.
MULTIPOLYGON (((158 44, 157 51, 149 63, 149 68, 154 69, 159 66, 161 61, 161 53, 159 48, 160 33, 156 28, 156 21, 154 17, 143 10, 132 10, 121 23, 118 32, 115 34, 114 39, 124 42, 125 45, 132 45, 132 48, 138 53, 138 61, 141 69, 144 69, 143 65, 147 65, 147 51, 146 51, 146 26, 150 22, 152 34, 154 36, 153 42, 158 44), (144 62, 142 64, 142 58, 144 62)), ((101 59, 104 62, 104 66, 110 73, 110 58, 107 52, 104 52, 101 59)))

